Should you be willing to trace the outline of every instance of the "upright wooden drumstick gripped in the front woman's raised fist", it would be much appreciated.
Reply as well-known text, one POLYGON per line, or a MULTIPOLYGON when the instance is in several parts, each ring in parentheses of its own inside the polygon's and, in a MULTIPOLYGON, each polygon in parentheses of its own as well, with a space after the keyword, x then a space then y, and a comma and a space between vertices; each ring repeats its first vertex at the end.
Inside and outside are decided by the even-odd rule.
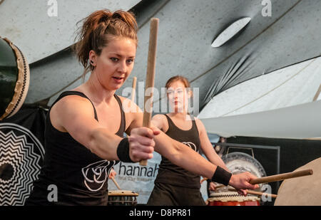
MULTIPOLYGON (((144 114, 143 114, 143 127, 151 127, 151 113, 153 110, 153 88, 156 68, 156 48, 157 48, 157 33, 158 33, 159 19, 151 19, 151 30, 149 33, 149 46, 148 46, 148 60, 147 60, 147 72, 146 72, 146 86, 145 86, 145 98, 144 98, 144 114), (146 95, 146 90, 150 89, 150 95, 146 95), (151 101, 151 105, 147 105, 148 100, 151 101)), ((141 166, 147 165, 147 159, 139 162, 141 166)))

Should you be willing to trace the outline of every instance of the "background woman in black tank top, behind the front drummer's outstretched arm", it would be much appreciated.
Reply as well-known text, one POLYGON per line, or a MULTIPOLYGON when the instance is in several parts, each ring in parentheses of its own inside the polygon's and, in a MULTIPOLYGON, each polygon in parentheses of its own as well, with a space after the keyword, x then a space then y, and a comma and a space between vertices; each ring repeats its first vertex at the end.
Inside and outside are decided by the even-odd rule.
MULTIPOLYGON (((195 152, 201 149, 210 162, 228 170, 223 160, 213 150, 203 123, 187 112, 188 98, 191 96, 191 91, 187 89, 190 88, 188 80, 183 76, 174 76, 168 80, 165 88, 170 113, 155 115, 154 125, 174 140, 188 145, 195 152)), ((213 183, 210 189, 214 189, 213 183)), ((178 167, 162 156, 148 205, 205 205, 200 194, 200 176, 178 167)))

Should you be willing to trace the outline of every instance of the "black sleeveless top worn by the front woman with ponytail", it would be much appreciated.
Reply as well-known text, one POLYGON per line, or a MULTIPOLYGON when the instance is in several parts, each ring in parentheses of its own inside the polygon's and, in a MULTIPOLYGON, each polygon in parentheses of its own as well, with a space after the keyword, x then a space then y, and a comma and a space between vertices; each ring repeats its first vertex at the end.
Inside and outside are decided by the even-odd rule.
MULTIPOLYGON (((79 95, 88 99, 81 92, 66 91, 61 93, 54 104, 66 95, 79 95)), ((121 109, 121 125, 116 135, 123 137, 123 132, 126 129, 125 113, 120 98, 117 95, 114 97, 121 109)), ((51 105, 51 108, 54 104, 51 105)), ((91 104, 93 105, 93 103, 91 104)), ((34 189, 25 204, 106 205, 108 201, 108 175, 113 165, 118 161, 102 159, 74 140, 68 132, 56 130, 51 124, 50 110, 46 117, 44 164, 41 167, 39 179, 34 182, 34 189), (49 193, 53 192, 53 188, 48 188, 51 184, 56 185, 58 193, 58 201, 56 202, 52 202, 52 199, 50 202, 47 199, 49 193)), ((98 121, 94 106, 93 110, 93 117, 98 121)))

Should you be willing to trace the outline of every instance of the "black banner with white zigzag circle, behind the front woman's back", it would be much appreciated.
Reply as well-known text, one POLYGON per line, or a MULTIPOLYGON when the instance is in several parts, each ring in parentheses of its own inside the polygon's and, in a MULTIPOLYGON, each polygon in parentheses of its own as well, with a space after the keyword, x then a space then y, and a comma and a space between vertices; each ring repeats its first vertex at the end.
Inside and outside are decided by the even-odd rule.
POLYGON ((46 110, 24 106, 0 121, 0 205, 24 205, 44 160, 46 110))

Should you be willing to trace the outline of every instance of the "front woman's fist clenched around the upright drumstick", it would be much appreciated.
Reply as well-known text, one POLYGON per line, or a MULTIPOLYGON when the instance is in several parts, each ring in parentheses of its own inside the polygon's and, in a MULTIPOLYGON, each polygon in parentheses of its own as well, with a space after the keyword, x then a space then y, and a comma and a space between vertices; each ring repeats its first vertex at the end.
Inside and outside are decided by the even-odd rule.
POLYGON ((155 147, 153 137, 159 133, 160 130, 156 127, 136 127, 131 130, 131 136, 128 137, 128 142, 129 156, 133 162, 153 158, 155 147))

